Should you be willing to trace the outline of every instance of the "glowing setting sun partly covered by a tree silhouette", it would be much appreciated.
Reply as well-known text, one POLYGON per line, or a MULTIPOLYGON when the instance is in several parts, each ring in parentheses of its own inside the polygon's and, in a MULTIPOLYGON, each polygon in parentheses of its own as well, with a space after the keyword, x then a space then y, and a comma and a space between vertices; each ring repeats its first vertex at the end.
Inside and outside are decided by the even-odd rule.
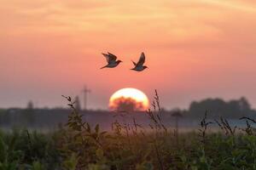
POLYGON ((145 111, 148 106, 147 95, 136 88, 122 88, 109 99, 110 110, 145 111))

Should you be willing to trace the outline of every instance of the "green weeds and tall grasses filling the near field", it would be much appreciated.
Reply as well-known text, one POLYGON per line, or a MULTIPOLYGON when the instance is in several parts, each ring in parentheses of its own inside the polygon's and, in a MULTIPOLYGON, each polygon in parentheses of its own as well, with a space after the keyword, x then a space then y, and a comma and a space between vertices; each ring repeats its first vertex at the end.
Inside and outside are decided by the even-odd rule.
POLYGON ((0 170, 256 169, 256 131, 251 125, 256 122, 248 117, 241 117, 247 127, 239 128, 222 117, 207 122, 206 114, 198 131, 179 134, 162 123, 156 93, 147 112, 148 127, 124 118, 113 122, 111 132, 103 132, 83 122, 72 99, 65 98, 72 109, 66 127, 47 134, 26 129, 0 133, 0 170), (208 133, 213 123, 219 133, 208 133))

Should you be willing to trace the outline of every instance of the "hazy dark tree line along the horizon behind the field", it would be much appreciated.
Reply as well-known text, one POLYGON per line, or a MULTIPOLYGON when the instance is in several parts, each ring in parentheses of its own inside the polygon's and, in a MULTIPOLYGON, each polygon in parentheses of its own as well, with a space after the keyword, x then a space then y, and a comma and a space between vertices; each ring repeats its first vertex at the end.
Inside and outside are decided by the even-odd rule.
MULTIPOLYGON (((78 100, 78 99, 77 99, 78 100)), ((118 110, 131 110, 137 107, 134 102, 119 102, 118 110), (133 105, 134 104, 134 105, 133 105)), ((115 112, 113 111, 81 111, 79 102, 76 103, 76 109, 84 114, 84 119, 91 123, 102 123, 105 127, 113 122, 115 112)), ((256 111, 251 108, 251 105, 246 98, 232 99, 224 101, 224 99, 203 99, 201 101, 193 101, 189 105, 188 110, 162 110, 162 116, 165 122, 173 122, 173 120, 184 119, 201 119, 205 112, 209 118, 218 118, 220 116, 228 119, 238 119, 241 116, 249 116, 256 118, 256 111)), ((67 121, 67 116, 70 113, 68 109, 36 109, 32 101, 28 103, 26 109, 0 109, 0 127, 56 127, 59 123, 67 121)), ((144 111, 137 112, 131 116, 135 117, 138 122, 147 120, 144 111)), ((103 126, 103 127, 104 127, 103 126)))

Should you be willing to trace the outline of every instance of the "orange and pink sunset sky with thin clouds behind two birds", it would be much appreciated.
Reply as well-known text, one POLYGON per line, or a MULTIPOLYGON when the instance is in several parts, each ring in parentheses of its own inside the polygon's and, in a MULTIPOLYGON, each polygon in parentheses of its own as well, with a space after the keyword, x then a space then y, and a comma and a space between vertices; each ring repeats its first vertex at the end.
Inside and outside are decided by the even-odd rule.
POLYGON ((154 88, 166 108, 246 96, 256 107, 254 0, 0 0, 0 107, 65 105, 92 90, 108 108, 119 88, 154 88), (102 52, 125 61, 105 65, 102 52), (130 71, 144 51, 149 69, 130 71))

